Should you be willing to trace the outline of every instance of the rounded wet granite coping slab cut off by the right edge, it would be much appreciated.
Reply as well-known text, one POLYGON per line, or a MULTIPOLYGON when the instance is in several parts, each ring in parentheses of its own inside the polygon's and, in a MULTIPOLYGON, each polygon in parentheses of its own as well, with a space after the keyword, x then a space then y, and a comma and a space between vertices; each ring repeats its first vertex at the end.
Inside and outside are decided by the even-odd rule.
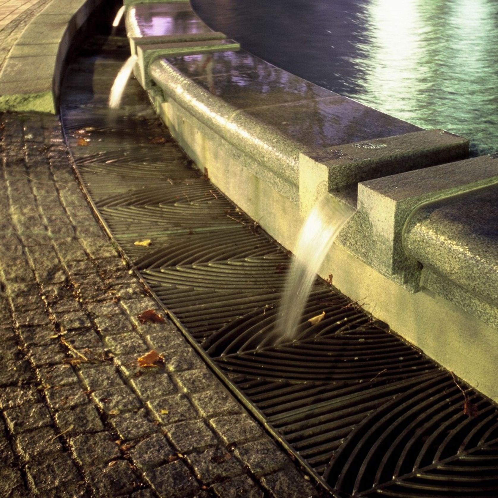
MULTIPOLYGON (((497 198, 495 185, 425 204, 410 216, 403 241, 407 253, 424 270, 432 270, 493 306, 498 305, 497 198)), ((455 285, 438 285, 436 277, 426 276, 425 281, 429 288, 437 287, 439 294, 456 299, 455 285), (446 290, 450 287, 451 293, 446 290)), ((459 302, 467 302, 465 297, 459 302)))

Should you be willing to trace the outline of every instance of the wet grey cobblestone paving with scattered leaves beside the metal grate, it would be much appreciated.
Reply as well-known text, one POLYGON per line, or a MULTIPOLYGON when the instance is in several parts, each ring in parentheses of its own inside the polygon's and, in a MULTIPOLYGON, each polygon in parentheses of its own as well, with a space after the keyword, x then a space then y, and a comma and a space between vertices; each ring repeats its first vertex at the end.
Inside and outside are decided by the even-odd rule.
POLYGON ((57 118, 3 114, 0 496, 311 497, 94 218, 57 118), (154 349, 165 366, 140 368, 154 349))

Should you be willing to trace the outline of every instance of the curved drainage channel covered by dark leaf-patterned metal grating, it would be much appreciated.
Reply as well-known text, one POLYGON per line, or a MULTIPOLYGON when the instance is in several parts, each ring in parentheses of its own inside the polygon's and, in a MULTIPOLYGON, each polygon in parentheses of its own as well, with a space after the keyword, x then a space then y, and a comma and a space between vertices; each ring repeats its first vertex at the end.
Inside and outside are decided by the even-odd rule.
POLYGON ((127 40, 90 45, 61 98, 80 179, 150 289, 253 414, 335 496, 496 497, 497 407, 333 287, 317 280, 298 339, 274 345, 288 254, 200 175, 136 81, 122 109, 108 109, 127 40))

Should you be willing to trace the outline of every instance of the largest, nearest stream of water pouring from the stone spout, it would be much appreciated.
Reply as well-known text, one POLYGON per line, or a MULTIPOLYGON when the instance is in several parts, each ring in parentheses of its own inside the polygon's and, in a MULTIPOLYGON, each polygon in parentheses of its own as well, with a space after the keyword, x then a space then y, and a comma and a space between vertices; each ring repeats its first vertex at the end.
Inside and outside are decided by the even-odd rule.
POLYGON ((279 342, 292 341, 316 274, 352 208, 325 194, 313 207, 298 236, 277 315, 279 342))

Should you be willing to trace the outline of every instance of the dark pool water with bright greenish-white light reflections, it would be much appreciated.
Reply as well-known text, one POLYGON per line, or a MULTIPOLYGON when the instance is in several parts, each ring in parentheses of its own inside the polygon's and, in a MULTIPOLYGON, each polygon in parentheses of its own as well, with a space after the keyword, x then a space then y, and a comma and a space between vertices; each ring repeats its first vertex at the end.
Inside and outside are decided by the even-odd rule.
POLYGON ((498 0, 192 0, 211 28, 293 74, 498 150, 498 0))

